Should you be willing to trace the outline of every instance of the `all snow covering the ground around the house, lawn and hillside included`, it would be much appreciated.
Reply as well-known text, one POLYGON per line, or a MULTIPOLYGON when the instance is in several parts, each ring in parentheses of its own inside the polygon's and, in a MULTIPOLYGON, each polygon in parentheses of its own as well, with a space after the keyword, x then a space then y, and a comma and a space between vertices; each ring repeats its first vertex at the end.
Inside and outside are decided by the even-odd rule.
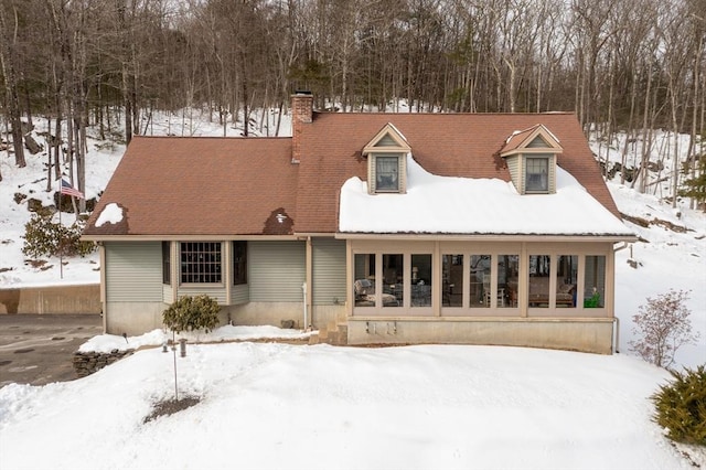
MULTIPOLYGON (((180 135, 181 124, 160 117, 151 129, 180 135)), ((189 129, 223 133, 203 120, 189 129)), ((105 188, 124 152, 93 142, 88 197, 105 188)), ((19 170, 0 153, 0 288, 99 280, 96 256, 64 259, 63 277, 58 259, 46 269, 24 263, 21 235, 30 216, 14 194, 51 203, 40 177, 44 160, 28 156, 29 168, 19 170)), ((627 223, 646 242, 617 254, 621 354, 232 343, 292 333, 223 327, 191 338, 214 343, 190 344, 182 359, 161 352, 159 330, 127 342, 100 335, 82 349, 142 350, 77 381, 0 388, 0 468, 693 468, 651 420, 649 396, 668 373, 632 355, 628 341, 631 317, 648 296, 691 290, 700 340, 676 362, 706 361, 706 216, 683 203, 674 210, 660 193, 613 181, 609 188, 621 212, 688 228, 627 223), (174 396, 174 364, 180 396, 199 404, 143 423, 154 403, 174 396)), ((64 214, 63 223, 71 222, 64 214)), ((693 459, 706 466, 703 449, 693 459)))

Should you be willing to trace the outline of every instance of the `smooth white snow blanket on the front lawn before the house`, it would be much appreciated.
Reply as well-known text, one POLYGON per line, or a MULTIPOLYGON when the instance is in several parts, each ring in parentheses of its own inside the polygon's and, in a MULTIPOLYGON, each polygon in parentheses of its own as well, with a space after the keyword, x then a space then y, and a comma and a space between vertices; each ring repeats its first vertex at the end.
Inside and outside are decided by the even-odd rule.
MULTIPOLYGON (((122 340, 120 338, 120 340, 122 340)), ((688 469, 651 421, 668 374, 500 346, 188 345, 0 388, 3 469, 688 469)))

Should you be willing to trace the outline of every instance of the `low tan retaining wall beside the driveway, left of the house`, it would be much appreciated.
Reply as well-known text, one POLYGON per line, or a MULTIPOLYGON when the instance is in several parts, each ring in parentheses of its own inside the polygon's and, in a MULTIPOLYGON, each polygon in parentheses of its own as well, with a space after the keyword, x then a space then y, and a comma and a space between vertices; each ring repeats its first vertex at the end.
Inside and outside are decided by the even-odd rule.
POLYGON ((101 313, 100 285, 0 289, 2 313, 101 313))

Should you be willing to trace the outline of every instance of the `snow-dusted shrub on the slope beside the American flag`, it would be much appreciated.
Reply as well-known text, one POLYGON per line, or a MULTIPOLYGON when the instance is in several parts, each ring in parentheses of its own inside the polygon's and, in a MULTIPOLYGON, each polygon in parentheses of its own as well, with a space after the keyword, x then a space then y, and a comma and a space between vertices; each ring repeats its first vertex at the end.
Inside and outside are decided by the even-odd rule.
POLYGON ((24 224, 22 253, 38 259, 41 256, 86 256, 96 249, 93 242, 82 242, 84 222, 71 226, 53 223, 49 215, 32 214, 24 224))

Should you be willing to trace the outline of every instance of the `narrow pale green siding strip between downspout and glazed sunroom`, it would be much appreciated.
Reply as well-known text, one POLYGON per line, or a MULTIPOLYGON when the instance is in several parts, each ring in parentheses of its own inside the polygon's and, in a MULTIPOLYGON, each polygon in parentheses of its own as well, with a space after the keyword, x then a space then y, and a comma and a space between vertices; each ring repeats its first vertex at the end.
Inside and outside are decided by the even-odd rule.
POLYGON ((345 241, 314 238, 312 241, 312 284, 315 306, 345 301, 345 241))

